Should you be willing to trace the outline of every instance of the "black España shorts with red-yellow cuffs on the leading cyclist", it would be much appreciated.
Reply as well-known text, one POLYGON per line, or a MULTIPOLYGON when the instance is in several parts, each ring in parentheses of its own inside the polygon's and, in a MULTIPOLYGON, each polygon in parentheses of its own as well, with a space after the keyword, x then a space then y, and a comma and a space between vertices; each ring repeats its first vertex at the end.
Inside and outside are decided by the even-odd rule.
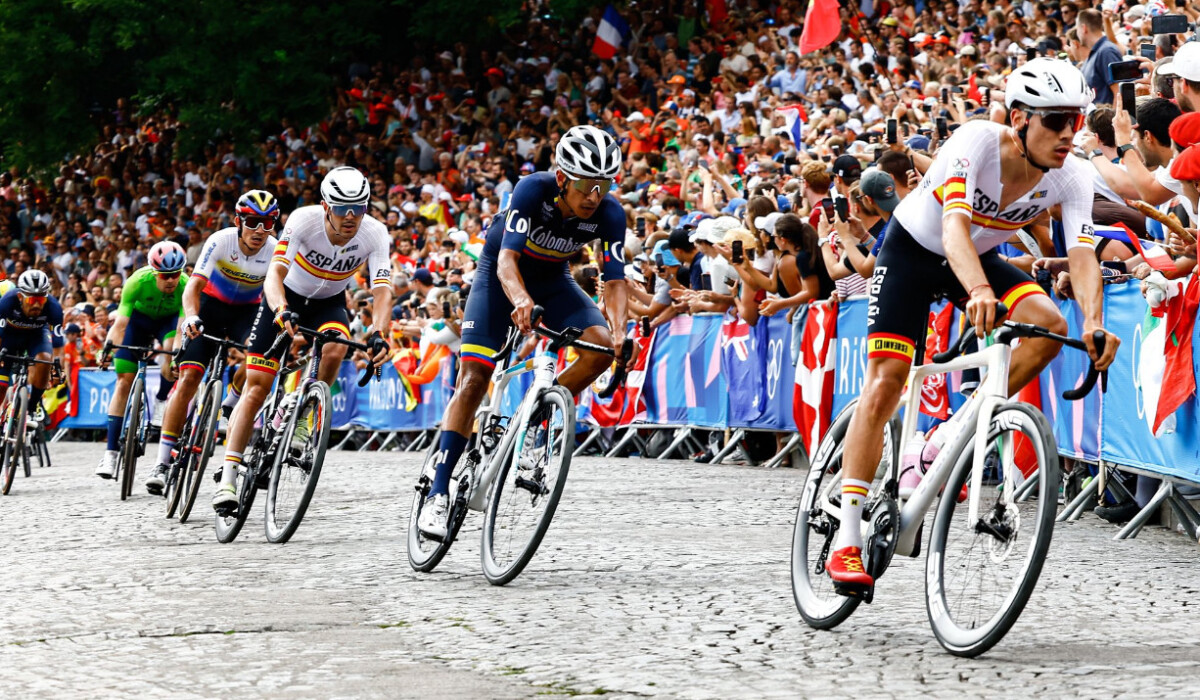
MULTIPOLYGON (((1000 258, 991 250, 979 256, 983 273, 996 298, 1009 312, 1026 298, 1045 292, 1033 277, 1000 258)), ((868 288, 866 357, 912 363, 917 342, 924 342, 929 307, 948 299, 962 309, 967 292, 944 257, 913 240, 894 217, 875 261, 868 288)))

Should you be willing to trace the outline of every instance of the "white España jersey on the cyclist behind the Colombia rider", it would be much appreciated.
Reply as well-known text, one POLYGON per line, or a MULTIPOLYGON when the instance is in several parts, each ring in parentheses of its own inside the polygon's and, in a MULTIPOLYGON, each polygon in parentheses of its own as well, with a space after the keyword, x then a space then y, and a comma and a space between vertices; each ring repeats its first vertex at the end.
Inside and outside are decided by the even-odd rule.
POLYGON ((388 227, 370 216, 362 219, 349 243, 335 246, 325 233, 325 209, 317 204, 292 213, 271 264, 288 268, 283 279, 288 289, 310 299, 328 299, 346 292, 364 263, 372 288, 389 287, 390 246, 388 227))

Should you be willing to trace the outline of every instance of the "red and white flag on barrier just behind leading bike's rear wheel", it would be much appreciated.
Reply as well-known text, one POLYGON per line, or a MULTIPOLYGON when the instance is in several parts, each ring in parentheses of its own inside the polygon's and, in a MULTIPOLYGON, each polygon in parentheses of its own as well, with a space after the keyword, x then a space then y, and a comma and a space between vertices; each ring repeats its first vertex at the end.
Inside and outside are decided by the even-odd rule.
POLYGON ((796 429, 811 455, 829 427, 833 407, 834 339, 838 337, 838 304, 809 304, 796 363, 792 414, 796 429))

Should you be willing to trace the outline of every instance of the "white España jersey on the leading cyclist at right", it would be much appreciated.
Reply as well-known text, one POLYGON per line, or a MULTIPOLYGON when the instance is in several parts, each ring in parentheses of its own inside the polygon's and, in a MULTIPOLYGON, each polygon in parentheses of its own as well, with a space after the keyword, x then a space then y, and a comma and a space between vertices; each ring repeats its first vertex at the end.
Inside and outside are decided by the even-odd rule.
POLYGON ((968 216, 971 240, 983 253, 1062 204, 1067 247, 1093 247, 1092 178, 1085 169, 1088 166, 1074 156, 1001 211, 1000 145, 1006 138, 1013 138, 1012 130, 1001 124, 964 124, 938 151, 917 190, 896 207, 895 219, 922 247, 944 256, 942 220, 968 216))

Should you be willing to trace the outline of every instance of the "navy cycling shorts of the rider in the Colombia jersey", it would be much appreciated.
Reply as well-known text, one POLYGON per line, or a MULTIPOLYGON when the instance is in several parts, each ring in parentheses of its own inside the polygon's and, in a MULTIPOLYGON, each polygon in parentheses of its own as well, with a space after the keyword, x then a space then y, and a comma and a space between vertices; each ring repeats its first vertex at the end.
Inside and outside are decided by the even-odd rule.
MULTIPOLYGON (((512 303, 496 276, 496 264, 491 257, 480 257, 462 318, 462 360, 488 367, 496 366, 492 355, 504 345, 512 327, 512 303)), ((600 309, 575 283, 566 264, 521 265, 521 276, 533 303, 545 310, 542 323, 546 328, 607 328, 600 309)))

